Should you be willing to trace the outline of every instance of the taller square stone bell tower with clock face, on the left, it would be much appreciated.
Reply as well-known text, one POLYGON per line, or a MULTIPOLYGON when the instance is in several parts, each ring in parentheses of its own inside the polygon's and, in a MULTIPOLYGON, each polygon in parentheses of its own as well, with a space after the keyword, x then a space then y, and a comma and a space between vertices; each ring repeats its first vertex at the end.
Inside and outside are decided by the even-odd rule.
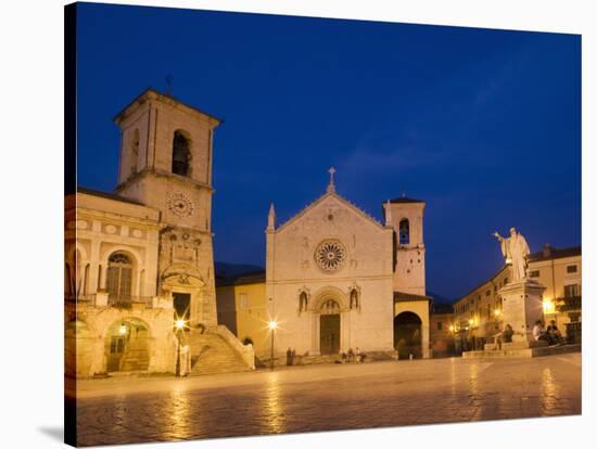
POLYGON ((213 136, 220 120, 145 90, 114 120, 122 130, 116 193, 161 211, 158 294, 178 316, 215 325, 213 136))

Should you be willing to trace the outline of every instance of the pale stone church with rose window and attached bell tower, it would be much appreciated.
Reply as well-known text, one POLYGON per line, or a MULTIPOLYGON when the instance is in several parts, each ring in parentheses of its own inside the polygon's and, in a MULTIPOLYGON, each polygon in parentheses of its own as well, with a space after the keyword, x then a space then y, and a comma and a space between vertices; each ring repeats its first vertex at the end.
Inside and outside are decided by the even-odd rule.
MULTIPOLYGON (((269 210, 263 305, 278 324, 274 357, 288 348, 301 357, 351 349, 371 358, 429 357, 424 202, 386 202, 382 224, 338 194, 330 175, 325 194, 287 222, 277 226, 274 205, 269 210)), ((234 291, 246 296, 249 284, 255 288, 239 282, 234 291)), ((234 329, 254 329, 254 317, 238 310, 234 329)), ((255 334, 238 336, 268 359, 271 332, 255 334)))

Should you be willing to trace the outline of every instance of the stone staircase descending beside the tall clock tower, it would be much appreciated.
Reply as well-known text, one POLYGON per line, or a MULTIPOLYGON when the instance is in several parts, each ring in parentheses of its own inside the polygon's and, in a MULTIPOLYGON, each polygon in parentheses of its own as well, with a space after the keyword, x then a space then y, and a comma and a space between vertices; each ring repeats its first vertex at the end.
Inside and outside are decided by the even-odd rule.
MULTIPOLYGON (((191 330, 183 336, 182 344, 191 348, 191 372, 189 375, 234 373, 254 370, 238 348, 218 330, 191 330)), ((240 342, 239 342, 240 345, 240 342)))

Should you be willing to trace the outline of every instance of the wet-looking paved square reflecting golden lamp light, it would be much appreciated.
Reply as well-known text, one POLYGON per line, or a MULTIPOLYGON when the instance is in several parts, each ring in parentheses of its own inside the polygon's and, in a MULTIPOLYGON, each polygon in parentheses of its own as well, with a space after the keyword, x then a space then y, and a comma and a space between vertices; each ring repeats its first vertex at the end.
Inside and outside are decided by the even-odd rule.
POLYGON ((79 445, 581 413, 581 355, 79 382, 79 445))

